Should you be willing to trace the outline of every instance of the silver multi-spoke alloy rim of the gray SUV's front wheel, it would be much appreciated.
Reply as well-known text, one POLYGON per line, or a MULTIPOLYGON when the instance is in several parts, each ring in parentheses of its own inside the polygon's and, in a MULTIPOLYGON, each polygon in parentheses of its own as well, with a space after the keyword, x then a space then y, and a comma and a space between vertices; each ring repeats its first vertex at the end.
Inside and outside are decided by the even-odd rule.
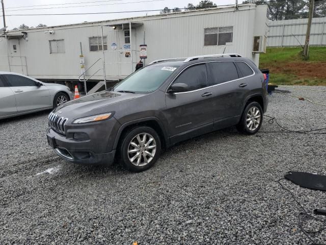
POLYGON ((135 166, 145 166, 149 164, 156 153, 156 141, 148 133, 141 133, 133 137, 128 145, 129 161, 135 166))

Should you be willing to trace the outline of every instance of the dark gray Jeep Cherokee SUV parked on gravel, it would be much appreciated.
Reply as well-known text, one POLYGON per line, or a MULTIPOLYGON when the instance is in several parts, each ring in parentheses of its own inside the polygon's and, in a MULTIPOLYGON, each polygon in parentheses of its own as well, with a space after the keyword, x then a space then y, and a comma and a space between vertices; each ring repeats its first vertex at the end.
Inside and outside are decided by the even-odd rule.
POLYGON ((59 106, 49 114, 47 139, 62 158, 143 171, 162 149, 236 126, 259 130, 267 108, 266 81, 237 54, 158 60, 111 89, 59 106))

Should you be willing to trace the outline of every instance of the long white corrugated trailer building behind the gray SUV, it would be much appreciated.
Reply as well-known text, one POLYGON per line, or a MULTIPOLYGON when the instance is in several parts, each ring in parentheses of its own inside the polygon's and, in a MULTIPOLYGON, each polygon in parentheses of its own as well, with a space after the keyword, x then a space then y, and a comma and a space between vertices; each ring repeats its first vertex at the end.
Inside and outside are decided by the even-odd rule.
POLYGON ((267 6, 248 4, 9 31, 0 34, 0 70, 42 81, 80 80, 80 87, 85 77, 89 88, 91 81, 118 81, 131 74, 142 44, 147 45, 145 64, 238 53, 258 65, 266 46, 267 15, 267 6))

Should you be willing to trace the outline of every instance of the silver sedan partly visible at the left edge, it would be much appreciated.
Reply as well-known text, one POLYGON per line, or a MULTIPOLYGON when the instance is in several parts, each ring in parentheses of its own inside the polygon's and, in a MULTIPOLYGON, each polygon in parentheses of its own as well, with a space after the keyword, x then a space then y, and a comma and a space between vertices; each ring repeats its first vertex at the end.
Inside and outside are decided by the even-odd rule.
POLYGON ((52 109, 72 99, 67 86, 0 71, 0 119, 52 109))

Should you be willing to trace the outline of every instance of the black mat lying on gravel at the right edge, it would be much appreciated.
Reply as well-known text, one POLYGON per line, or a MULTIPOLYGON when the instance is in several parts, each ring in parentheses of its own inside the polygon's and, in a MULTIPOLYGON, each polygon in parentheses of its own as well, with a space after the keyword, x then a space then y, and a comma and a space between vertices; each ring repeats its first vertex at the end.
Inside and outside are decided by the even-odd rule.
POLYGON ((324 175, 313 175, 305 172, 290 171, 284 177, 301 187, 326 191, 326 176, 324 175))

